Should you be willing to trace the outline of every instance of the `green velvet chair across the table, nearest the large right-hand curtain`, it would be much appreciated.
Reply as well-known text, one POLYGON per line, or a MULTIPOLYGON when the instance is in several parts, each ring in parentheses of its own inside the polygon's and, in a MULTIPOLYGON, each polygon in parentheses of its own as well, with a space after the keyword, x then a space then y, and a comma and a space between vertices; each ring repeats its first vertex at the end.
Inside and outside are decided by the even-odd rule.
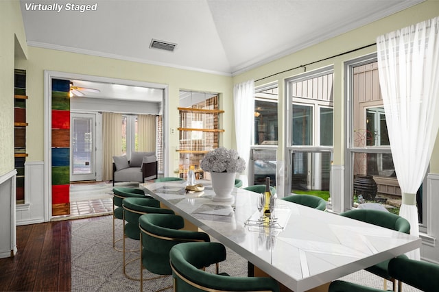
MULTIPOLYGON (((340 215, 399 232, 410 233, 409 221, 391 212, 373 209, 357 209, 342 212, 340 215)), ((407 258, 404 254, 399 257, 407 258)), ((390 276, 388 271, 389 261, 390 260, 384 260, 377 265, 372 265, 371 267, 366 268, 366 271, 384 278, 384 290, 387 289, 387 280, 390 280, 393 283, 393 291, 396 291, 396 279, 390 276)))

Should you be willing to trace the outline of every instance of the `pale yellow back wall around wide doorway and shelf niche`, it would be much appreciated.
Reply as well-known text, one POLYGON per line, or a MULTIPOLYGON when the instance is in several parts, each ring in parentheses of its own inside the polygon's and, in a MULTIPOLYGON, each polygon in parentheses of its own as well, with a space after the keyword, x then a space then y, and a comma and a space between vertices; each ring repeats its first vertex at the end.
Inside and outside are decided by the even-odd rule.
MULTIPOLYGON (((123 60, 87 56, 50 49, 29 47, 27 64, 20 64, 27 71, 27 161, 44 159, 44 71, 60 71, 167 84, 169 90, 169 127, 178 127, 178 93, 180 89, 220 93, 220 106, 225 110, 222 127, 227 129, 220 143, 231 147, 233 132, 232 77, 199 73, 165 66, 140 64, 123 60), (29 147, 32 145, 32 147, 29 147)), ((178 168, 178 132, 169 137, 169 171, 178 168)), ((173 175, 173 173, 169 173, 173 175)))

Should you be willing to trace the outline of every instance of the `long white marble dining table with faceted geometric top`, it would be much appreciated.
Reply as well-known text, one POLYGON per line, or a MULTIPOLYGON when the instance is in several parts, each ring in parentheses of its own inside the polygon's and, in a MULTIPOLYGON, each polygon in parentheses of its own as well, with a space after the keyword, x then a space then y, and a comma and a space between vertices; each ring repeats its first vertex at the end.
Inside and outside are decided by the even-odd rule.
POLYGON ((141 188, 272 278, 295 292, 307 291, 420 247, 416 236, 278 199, 276 222, 257 222, 257 195, 233 190, 230 202, 204 191, 185 191, 186 181, 141 188))

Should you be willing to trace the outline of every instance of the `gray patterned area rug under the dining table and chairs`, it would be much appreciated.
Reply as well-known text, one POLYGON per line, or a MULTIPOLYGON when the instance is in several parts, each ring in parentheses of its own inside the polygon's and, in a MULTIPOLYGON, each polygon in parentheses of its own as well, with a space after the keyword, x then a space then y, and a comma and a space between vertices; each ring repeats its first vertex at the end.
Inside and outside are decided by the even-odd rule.
MULTIPOLYGON (((103 216, 91 219, 71 221, 71 291, 139 291, 139 281, 123 276, 123 255, 112 248, 112 217, 103 216)), ((116 220, 116 234, 122 234, 122 222, 116 220)), ((215 239, 213 239, 215 241, 215 239)), ((122 246, 122 241, 117 243, 122 246)), ((127 250, 139 250, 139 241, 126 240, 127 250)), ((137 258, 138 252, 127 254, 128 260, 137 258)), ((139 260, 128 265, 127 273, 139 277, 139 260)), ((247 261, 230 249, 227 259, 220 264, 220 271, 230 276, 247 276, 247 261)), ((143 277, 150 278, 154 274, 144 270, 143 277)), ((356 282, 369 287, 382 289, 383 280, 372 273, 361 270, 345 276, 342 280, 356 282)), ((143 282, 143 291, 157 291, 172 284, 171 276, 158 280, 143 282)), ((388 283, 388 289, 392 284, 388 283)), ((408 285, 404 291, 418 292, 408 285)), ((172 291, 168 289, 167 291, 172 291)))

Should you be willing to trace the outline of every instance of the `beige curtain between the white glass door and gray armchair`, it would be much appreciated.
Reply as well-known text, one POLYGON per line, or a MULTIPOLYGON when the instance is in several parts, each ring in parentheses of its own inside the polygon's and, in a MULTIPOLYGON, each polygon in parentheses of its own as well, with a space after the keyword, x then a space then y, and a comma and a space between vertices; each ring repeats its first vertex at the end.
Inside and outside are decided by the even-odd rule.
POLYGON ((122 152, 122 114, 102 113, 102 180, 112 180, 112 156, 122 152))

